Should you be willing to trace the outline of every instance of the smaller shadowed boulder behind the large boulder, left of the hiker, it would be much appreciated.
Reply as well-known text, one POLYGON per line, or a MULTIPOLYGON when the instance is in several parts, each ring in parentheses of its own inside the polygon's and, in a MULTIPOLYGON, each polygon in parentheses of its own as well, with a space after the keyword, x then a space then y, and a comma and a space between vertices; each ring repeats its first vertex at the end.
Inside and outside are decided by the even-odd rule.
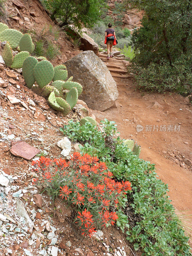
POLYGON ((99 55, 99 45, 95 43, 95 41, 88 36, 86 33, 81 35, 81 45, 80 49, 83 51, 91 50, 96 55, 99 55))

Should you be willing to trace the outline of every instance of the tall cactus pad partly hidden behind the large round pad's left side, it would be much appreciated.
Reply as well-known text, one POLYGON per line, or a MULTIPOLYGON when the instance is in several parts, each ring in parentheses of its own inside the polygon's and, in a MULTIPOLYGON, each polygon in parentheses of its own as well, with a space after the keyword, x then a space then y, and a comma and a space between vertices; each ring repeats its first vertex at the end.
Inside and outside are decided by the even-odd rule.
POLYGON ((23 61, 22 74, 25 79, 25 83, 28 88, 31 88, 35 84, 35 77, 33 76, 33 69, 38 63, 35 57, 29 56, 23 61))

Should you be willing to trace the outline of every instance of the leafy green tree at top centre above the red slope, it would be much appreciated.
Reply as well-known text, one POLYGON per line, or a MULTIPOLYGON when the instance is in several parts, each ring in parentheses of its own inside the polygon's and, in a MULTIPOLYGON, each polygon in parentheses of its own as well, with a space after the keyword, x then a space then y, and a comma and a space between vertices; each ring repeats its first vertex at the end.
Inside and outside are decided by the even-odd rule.
POLYGON ((105 0, 44 0, 51 11, 51 19, 59 19, 60 26, 73 24, 76 28, 92 27, 100 19, 105 0))

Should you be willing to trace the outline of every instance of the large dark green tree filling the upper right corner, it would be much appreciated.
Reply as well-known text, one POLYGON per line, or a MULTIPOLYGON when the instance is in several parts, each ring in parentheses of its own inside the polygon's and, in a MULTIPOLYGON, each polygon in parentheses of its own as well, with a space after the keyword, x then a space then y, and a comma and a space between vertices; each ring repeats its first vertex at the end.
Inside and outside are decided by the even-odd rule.
MULTIPOLYGON (((169 78, 170 88, 184 86, 190 91, 191 0, 125 0, 125 2, 145 12, 142 26, 135 29, 132 35, 132 46, 136 50, 133 63, 140 66, 140 72, 146 69, 149 71, 150 67, 153 67, 153 71, 156 67, 156 71, 161 72, 166 66, 169 74, 165 78, 169 78)), ((142 81, 144 79, 143 77, 142 81)), ((159 83, 163 84, 163 82, 159 83)), ((153 84, 154 88, 155 84, 153 84)))

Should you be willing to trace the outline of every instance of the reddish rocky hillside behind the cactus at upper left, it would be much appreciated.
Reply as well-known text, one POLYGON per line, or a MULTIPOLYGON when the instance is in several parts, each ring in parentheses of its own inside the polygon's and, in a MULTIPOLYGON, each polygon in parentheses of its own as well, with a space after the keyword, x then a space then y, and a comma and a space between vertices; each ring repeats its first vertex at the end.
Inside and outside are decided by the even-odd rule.
POLYGON ((3 22, 10 28, 29 33, 33 41, 46 37, 59 49, 59 55, 52 60, 53 64, 63 63, 79 53, 72 40, 55 26, 38 0, 6 1, 5 12, 3 22))

